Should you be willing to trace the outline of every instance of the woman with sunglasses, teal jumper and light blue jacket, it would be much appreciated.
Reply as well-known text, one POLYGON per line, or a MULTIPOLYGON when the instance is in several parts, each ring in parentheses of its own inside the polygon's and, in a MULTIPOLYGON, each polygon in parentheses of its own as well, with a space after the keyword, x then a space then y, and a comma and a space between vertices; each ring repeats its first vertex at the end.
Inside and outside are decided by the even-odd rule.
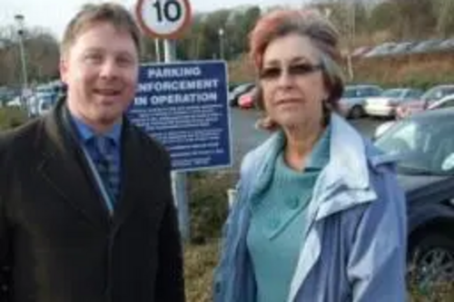
POLYGON ((404 196, 392 162, 335 112, 337 44, 312 11, 252 31, 260 125, 275 133, 242 162, 217 302, 405 300, 404 196))

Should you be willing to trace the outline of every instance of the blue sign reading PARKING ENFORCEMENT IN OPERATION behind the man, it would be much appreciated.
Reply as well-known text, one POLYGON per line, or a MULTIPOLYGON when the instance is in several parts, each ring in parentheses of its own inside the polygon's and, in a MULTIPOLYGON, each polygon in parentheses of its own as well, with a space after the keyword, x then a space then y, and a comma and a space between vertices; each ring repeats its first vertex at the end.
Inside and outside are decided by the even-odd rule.
POLYGON ((229 111, 224 62, 149 63, 141 65, 128 116, 183 171, 232 166, 229 111))

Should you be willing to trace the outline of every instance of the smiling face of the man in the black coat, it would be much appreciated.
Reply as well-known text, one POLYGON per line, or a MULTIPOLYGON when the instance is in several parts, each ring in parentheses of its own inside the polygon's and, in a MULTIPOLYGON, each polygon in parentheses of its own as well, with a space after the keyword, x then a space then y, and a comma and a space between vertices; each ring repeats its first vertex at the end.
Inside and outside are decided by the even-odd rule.
POLYGON ((94 130, 110 129, 133 102, 137 53, 131 34, 112 24, 93 24, 80 34, 60 63, 70 112, 94 130))

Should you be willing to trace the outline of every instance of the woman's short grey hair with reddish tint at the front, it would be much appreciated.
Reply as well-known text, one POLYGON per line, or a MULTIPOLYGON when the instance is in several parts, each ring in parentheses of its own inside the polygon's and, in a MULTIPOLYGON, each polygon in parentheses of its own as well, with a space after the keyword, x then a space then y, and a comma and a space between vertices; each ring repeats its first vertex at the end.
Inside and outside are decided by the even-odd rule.
MULTIPOLYGON (((342 59, 338 48, 339 33, 334 25, 316 10, 279 9, 263 15, 249 36, 250 57, 256 70, 262 69, 263 54, 271 41, 288 34, 309 37, 311 43, 320 51, 323 80, 330 94, 322 104, 323 110, 324 112, 337 110, 338 101, 343 93, 342 59)), ((263 110, 260 83, 257 85, 254 98, 259 108, 263 110)), ((264 128, 272 128, 269 118, 262 122, 264 128)))

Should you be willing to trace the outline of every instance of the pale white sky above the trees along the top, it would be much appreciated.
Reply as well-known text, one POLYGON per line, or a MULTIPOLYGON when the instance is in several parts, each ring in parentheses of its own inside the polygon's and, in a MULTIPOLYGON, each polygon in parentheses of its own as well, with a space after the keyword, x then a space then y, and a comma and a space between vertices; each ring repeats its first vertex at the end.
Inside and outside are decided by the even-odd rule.
MULTIPOLYGON (((136 0, 112 0, 127 7, 133 7, 136 0)), ((310 0, 189 0, 192 11, 212 12, 221 8, 239 5, 301 6, 310 0)), ((77 10, 85 3, 99 3, 95 0, 0 0, 0 27, 15 24, 15 15, 24 15, 25 26, 41 26, 60 40, 64 27, 77 10)))

